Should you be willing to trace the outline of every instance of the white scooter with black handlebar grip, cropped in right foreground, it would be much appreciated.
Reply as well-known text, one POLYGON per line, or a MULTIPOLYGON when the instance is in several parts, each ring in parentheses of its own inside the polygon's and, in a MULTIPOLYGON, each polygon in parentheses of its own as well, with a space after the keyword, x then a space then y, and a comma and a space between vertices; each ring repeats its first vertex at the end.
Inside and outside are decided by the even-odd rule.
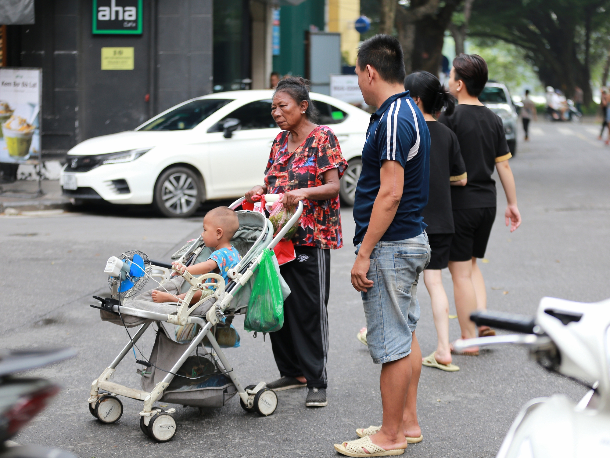
POLYGON ((562 394, 525 404, 497 458, 610 457, 610 299, 584 304, 544 297, 535 318, 486 311, 470 319, 522 334, 458 340, 457 351, 524 345, 540 366, 590 388, 578 404, 562 394))

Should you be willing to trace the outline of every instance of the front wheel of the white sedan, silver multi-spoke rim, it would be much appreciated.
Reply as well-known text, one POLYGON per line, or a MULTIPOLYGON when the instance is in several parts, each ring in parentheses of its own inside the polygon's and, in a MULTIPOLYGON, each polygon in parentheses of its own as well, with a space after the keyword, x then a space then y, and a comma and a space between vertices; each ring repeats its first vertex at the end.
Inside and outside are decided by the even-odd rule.
POLYGON ((163 216, 187 218, 192 216, 201 203, 203 189, 201 178, 186 167, 165 170, 154 188, 154 205, 163 216))

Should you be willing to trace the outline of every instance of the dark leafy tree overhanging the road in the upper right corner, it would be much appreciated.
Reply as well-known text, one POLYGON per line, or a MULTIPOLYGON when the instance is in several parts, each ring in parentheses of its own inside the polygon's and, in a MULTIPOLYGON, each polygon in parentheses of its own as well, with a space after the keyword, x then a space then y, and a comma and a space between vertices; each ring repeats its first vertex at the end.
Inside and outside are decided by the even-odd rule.
POLYGON ((524 49, 544 85, 573 96, 575 87, 592 101, 592 34, 606 27, 609 0, 495 0, 472 10, 470 35, 524 49))

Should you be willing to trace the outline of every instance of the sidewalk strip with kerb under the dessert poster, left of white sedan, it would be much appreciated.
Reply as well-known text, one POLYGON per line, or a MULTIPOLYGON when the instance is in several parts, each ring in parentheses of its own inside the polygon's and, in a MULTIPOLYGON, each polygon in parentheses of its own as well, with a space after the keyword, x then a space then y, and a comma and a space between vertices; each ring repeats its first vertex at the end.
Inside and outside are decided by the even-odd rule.
POLYGON ((35 197, 38 181, 17 180, 15 183, 0 184, 0 213, 66 209, 71 205, 70 198, 62 195, 59 180, 43 180, 41 184, 45 194, 40 197, 35 197))

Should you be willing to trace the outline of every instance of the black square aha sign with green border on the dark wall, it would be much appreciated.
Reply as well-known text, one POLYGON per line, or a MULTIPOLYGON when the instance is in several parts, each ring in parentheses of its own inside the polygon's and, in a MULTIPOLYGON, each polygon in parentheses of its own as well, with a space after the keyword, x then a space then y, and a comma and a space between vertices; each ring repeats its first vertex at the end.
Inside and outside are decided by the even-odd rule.
POLYGON ((142 0, 93 0, 94 34, 142 34, 142 0))

